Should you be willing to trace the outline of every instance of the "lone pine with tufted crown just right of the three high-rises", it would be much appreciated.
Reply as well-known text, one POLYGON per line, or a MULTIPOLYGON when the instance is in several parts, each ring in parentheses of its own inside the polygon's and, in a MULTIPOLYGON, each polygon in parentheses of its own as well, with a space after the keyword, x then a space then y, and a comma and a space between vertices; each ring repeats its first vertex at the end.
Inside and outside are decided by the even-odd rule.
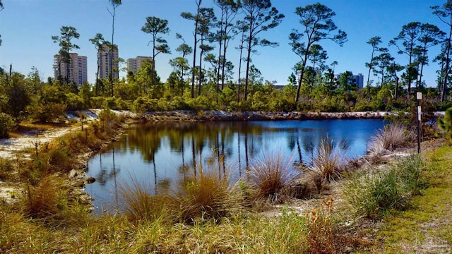
MULTIPOLYGON (((149 44, 152 42, 153 44, 153 73, 155 72, 155 56, 157 54, 171 54, 169 51, 169 46, 167 44, 167 40, 163 39, 159 34, 167 35, 169 33, 168 28, 168 20, 160 19, 157 17, 148 17, 146 18, 146 23, 143 25, 141 30, 145 33, 150 34, 151 40, 148 42, 149 44)), ((155 78, 152 78, 152 83, 155 84, 155 78)))

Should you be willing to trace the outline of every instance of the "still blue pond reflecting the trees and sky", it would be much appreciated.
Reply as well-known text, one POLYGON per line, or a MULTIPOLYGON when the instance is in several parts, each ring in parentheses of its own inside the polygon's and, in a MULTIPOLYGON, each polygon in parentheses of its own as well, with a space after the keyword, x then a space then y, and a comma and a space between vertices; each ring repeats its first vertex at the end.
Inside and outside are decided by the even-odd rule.
POLYGON ((239 179, 250 164, 273 154, 294 165, 309 164, 326 136, 340 144, 335 152, 352 159, 365 155, 384 124, 378 119, 136 124, 90 159, 87 174, 96 181, 85 191, 95 199, 95 212, 111 211, 121 204, 119 188, 132 181, 157 188, 212 163, 239 179))

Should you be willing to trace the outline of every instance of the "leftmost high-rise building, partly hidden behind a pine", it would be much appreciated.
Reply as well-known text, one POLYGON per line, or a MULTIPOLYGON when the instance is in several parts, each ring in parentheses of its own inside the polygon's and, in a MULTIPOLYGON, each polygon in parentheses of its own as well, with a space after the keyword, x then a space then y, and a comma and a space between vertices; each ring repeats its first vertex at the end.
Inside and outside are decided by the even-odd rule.
POLYGON ((61 59, 59 54, 54 55, 54 78, 68 78, 69 82, 78 86, 88 81, 86 56, 69 53, 69 63, 61 59))

